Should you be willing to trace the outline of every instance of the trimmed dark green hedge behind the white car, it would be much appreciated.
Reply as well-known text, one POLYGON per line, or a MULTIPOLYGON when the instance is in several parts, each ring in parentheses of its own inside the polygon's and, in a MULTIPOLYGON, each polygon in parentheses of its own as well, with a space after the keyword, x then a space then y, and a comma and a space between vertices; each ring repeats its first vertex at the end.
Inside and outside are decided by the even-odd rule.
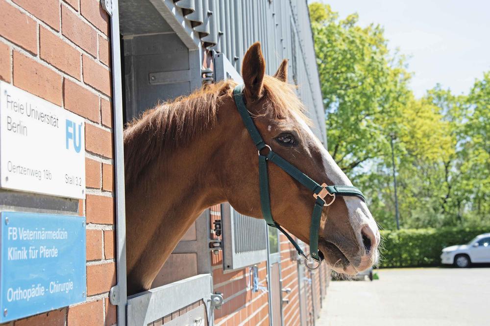
POLYGON ((437 266, 442 248, 465 244, 487 232, 488 227, 383 230, 379 267, 437 266))

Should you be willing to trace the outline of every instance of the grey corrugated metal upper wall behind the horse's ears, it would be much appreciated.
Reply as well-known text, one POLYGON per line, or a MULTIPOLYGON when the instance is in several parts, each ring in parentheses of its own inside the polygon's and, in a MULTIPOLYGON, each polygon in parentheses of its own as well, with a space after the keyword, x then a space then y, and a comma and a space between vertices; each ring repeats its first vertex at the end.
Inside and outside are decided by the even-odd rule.
POLYGON ((203 46, 224 53, 239 72, 246 49, 256 41, 262 43, 268 74, 275 72, 282 59, 290 59, 299 95, 315 123, 314 132, 326 144, 306 0, 177 0, 174 5, 182 10, 203 46))

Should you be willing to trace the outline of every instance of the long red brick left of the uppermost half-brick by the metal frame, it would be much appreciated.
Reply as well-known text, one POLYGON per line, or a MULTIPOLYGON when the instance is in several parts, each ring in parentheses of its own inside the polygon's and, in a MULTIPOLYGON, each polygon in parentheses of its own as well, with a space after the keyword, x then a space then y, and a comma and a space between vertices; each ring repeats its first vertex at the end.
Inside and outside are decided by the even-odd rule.
POLYGON ((61 32, 74 44, 94 57, 97 56, 97 31, 63 5, 61 6, 61 32))

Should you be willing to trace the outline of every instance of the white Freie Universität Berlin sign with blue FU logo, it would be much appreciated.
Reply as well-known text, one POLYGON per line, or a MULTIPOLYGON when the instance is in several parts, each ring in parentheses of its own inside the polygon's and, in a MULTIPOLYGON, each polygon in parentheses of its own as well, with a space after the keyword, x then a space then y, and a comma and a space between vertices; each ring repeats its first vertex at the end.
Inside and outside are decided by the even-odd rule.
POLYGON ((0 187, 85 198, 85 122, 0 81, 0 187))

